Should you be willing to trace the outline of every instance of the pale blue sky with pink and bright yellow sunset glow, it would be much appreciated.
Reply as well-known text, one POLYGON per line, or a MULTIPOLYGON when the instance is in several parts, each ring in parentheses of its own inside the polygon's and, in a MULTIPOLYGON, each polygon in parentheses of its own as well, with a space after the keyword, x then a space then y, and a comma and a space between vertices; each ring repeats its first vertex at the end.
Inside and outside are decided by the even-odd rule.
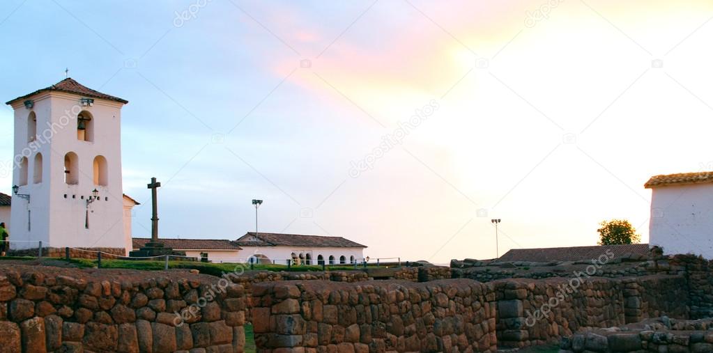
MULTIPOLYGON (((0 97, 129 101, 134 236, 344 236, 371 258, 648 241, 657 174, 713 170, 710 1, 65 1, 0 7, 0 97), (498 245, 492 218, 500 218, 498 245)), ((0 191, 11 191, 10 107, 0 191)))

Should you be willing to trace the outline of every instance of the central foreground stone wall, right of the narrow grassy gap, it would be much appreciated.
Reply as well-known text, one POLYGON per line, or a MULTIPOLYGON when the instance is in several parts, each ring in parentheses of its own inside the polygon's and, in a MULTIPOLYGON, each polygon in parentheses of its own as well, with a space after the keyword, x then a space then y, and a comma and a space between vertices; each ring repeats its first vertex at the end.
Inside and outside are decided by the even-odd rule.
POLYGON ((260 283, 252 322, 262 352, 495 352, 494 299, 473 280, 260 283))

